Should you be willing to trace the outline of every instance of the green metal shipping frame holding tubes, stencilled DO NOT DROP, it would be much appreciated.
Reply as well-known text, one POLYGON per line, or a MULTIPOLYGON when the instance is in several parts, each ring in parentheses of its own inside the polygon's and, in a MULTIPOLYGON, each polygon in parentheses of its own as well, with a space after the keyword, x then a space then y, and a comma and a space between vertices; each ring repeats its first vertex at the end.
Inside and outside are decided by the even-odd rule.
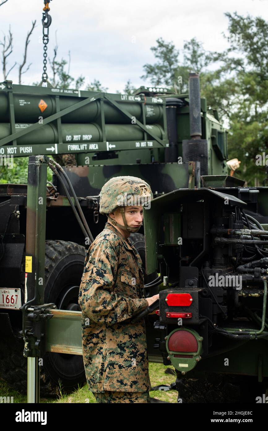
MULTIPOLYGON (((77 119, 75 123, 77 123, 77 119)), ((110 131, 110 136, 116 138, 118 133, 120 133, 120 126, 122 124, 119 122, 118 124, 115 123, 114 126, 116 131, 110 131)), ((75 128, 76 131, 77 127, 75 128)), ((12 84, 12 81, 3 81, 0 83, 0 154, 2 155, 12 154, 18 157, 28 156, 29 154, 53 155, 89 153, 91 151, 95 153, 96 151, 109 151, 111 149, 136 150, 137 147, 141 149, 169 147, 166 126, 166 100, 164 97, 128 96, 126 94, 107 94, 95 91, 34 87, 12 84), (44 100, 40 99, 40 96, 44 100), (88 108, 89 105, 91 105, 91 110, 96 112, 96 115, 93 115, 94 123, 91 123, 90 116, 88 122, 83 119, 82 123, 84 126, 91 124, 93 127, 94 125, 94 130, 97 131, 99 140, 91 141, 91 138, 90 140, 86 139, 86 137, 90 136, 88 134, 83 135, 78 133, 73 134, 73 136, 64 136, 63 128, 66 128, 70 121, 63 123, 62 119, 68 118, 68 115, 70 118, 72 113, 77 113, 77 119, 79 119, 81 112, 83 116, 86 116, 86 111, 81 111, 81 108, 88 108), (136 111, 138 113, 137 117, 129 112, 128 106, 131 112, 136 111), (5 118, 6 112, 9 113, 8 118, 5 118), (48 116, 46 116, 47 112, 49 112, 48 116), (131 128, 131 134, 134 129, 137 129, 139 132, 142 131, 142 136, 139 133, 141 139, 134 141, 133 139, 128 140, 121 137, 118 141, 107 140, 106 135, 108 130, 111 129, 111 124, 114 123, 112 118, 113 116, 117 118, 118 114, 120 114, 121 119, 127 119, 127 124, 131 128), (17 118, 19 115, 25 119, 26 117, 29 118, 29 116, 34 118, 34 124, 18 123, 17 118), (110 124, 108 124, 105 116, 111 119, 110 124), (152 124, 151 117, 153 116, 157 118, 157 125, 152 124), (36 133, 40 133, 40 130, 42 133, 45 133, 45 126, 52 125, 52 123, 55 142, 52 142, 51 145, 35 143, 25 145, 18 143, 20 138, 25 135, 29 137, 31 132, 35 132, 34 141, 38 141, 36 133), (158 132, 158 136, 156 131, 158 132), (69 136, 71 137, 68 142, 69 136), (80 138, 77 136, 80 136, 80 138), (85 136, 85 139, 83 139, 83 136, 85 136)))

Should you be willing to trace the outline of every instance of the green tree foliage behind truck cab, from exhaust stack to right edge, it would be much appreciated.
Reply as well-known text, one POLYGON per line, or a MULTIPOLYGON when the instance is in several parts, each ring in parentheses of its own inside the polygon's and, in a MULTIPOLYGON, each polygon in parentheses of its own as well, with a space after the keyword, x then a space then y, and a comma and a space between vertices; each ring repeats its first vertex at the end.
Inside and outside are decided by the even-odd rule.
POLYGON ((159 38, 157 46, 151 47, 158 61, 145 64, 142 78, 175 93, 188 93, 188 73, 199 72, 201 96, 209 107, 218 109, 220 120, 229 128, 229 157, 241 160, 236 175, 246 178, 248 185, 262 185, 265 167, 256 166, 256 155, 268 148, 268 22, 237 12, 225 15, 228 36, 223 37, 229 41, 228 49, 206 52, 192 38, 184 43, 180 64, 175 45, 159 38), (209 65, 217 69, 208 70, 209 65))

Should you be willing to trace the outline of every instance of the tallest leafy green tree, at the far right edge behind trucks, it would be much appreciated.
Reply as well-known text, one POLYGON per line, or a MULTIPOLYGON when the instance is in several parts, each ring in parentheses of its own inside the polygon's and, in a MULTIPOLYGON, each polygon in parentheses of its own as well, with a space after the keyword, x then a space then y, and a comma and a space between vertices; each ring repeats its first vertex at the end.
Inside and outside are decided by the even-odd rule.
POLYGON ((256 156, 268 149, 268 22, 237 12, 225 15, 231 44, 218 58, 225 75, 231 71, 236 85, 235 93, 229 95, 233 102, 229 153, 242 160, 248 184, 255 185, 265 177, 265 167, 256 166, 256 156))

